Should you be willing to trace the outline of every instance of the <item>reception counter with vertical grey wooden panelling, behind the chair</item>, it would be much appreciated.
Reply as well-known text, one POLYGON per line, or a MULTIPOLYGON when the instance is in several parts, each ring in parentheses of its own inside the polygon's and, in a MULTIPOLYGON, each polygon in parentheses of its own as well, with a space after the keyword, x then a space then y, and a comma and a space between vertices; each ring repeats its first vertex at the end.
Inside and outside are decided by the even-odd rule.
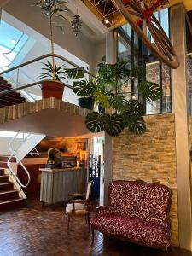
POLYGON ((39 168, 41 175, 40 201, 55 204, 69 199, 69 193, 84 193, 86 172, 84 167, 63 169, 39 168))

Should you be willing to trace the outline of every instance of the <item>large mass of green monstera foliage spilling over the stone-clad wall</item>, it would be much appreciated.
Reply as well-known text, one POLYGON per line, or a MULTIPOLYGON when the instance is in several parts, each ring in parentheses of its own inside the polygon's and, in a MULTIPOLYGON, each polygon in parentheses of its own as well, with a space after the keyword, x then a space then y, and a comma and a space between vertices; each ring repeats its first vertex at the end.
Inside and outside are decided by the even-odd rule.
POLYGON ((74 79, 73 92, 79 96, 90 96, 91 93, 95 102, 102 105, 100 110, 87 114, 86 127, 91 132, 106 131, 111 137, 118 136, 125 127, 137 134, 146 131, 143 105, 131 98, 131 92, 125 93, 133 79, 137 80, 138 96, 148 101, 158 100, 162 96, 158 84, 146 81, 145 68, 131 69, 128 61, 118 61, 116 64, 102 61, 97 66, 96 79, 84 79, 84 72, 78 68, 65 69, 65 75, 74 79), (105 112, 101 111, 103 108, 105 112))

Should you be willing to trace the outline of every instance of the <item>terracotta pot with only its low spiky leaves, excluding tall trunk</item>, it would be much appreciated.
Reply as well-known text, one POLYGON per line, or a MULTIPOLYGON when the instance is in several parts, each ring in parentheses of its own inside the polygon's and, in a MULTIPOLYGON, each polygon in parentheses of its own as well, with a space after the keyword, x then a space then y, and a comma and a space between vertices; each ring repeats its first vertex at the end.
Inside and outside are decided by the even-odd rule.
POLYGON ((41 84, 42 97, 49 98, 55 97, 57 99, 62 99, 64 85, 61 83, 61 79, 65 79, 63 76, 62 68, 64 65, 58 66, 55 64, 55 68, 47 61, 47 63, 42 63, 45 67, 42 67, 44 72, 40 73, 40 78, 51 78, 50 80, 44 80, 41 84), (55 77, 54 74, 55 73, 55 77))

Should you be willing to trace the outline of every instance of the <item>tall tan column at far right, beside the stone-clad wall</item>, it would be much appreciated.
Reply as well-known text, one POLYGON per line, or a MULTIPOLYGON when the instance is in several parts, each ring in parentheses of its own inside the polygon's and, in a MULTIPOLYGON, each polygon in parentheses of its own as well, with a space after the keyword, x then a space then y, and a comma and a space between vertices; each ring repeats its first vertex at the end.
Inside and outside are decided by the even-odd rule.
POLYGON ((191 183, 189 158, 188 90, 186 77, 185 10, 183 4, 171 9, 172 43, 180 66, 172 70, 173 112, 177 157, 178 232, 180 247, 191 250, 191 183))

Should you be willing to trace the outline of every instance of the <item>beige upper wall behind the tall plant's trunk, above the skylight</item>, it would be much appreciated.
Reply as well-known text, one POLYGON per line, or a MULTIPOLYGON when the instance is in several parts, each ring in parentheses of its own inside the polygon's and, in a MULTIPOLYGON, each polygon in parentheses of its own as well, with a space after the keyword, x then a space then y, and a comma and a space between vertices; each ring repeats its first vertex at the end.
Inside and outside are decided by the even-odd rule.
MULTIPOLYGON (((40 8, 32 7, 34 0, 20 0, 19 2, 18 4, 18 1, 11 0, 3 9, 49 38, 49 21, 43 17, 40 8)), ((54 31, 56 44, 88 63, 90 70, 94 68, 95 44, 89 38, 86 38, 82 33, 75 37, 68 21, 66 21, 64 35, 57 28, 54 31)))

